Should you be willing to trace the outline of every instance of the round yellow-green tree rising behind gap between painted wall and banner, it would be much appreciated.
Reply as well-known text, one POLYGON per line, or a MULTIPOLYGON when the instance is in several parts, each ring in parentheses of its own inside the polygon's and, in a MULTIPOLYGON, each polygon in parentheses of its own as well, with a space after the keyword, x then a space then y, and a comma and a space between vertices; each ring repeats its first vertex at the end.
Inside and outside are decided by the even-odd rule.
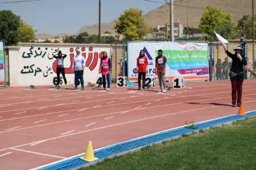
POLYGON ((115 29, 126 37, 126 40, 142 40, 147 33, 147 25, 142 10, 129 8, 115 20, 115 29))

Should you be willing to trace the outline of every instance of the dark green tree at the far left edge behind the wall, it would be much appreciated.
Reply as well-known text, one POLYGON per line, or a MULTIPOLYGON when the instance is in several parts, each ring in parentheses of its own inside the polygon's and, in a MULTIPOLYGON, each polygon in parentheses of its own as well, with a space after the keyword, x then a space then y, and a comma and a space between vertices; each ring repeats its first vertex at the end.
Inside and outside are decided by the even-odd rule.
POLYGON ((0 11, 0 39, 5 39, 6 45, 18 42, 19 16, 10 10, 0 11))

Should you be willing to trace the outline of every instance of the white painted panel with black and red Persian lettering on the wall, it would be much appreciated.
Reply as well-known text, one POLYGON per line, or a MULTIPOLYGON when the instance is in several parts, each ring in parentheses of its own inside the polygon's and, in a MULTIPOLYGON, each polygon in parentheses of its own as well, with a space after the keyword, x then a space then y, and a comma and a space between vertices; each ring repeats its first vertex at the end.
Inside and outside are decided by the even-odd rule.
MULTIPOLYGON (((82 56, 85 57, 85 82, 96 82, 98 67, 103 52, 110 56, 111 46, 19 46, 18 69, 19 82, 26 85, 49 85, 56 82, 57 56, 59 50, 67 54, 64 59, 65 74, 69 84, 73 84, 73 58, 76 55, 75 49, 80 48, 82 56)), ((11 69, 11 68, 10 68, 11 69)))

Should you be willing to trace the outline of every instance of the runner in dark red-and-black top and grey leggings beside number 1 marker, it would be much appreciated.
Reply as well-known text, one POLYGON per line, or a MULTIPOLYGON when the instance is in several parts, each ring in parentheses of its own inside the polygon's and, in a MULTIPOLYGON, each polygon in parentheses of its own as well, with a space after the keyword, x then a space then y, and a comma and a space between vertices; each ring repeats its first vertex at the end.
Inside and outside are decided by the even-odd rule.
POLYGON ((158 80, 159 80, 159 86, 160 90, 159 92, 166 92, 166 63, 167 59, 165 56, 163 56, 163 51, 158 50, 158 56, 155 58, 155 70, 158 74, 158 80), (162 82, 163 82, 163 88, 162 88, 162 82))

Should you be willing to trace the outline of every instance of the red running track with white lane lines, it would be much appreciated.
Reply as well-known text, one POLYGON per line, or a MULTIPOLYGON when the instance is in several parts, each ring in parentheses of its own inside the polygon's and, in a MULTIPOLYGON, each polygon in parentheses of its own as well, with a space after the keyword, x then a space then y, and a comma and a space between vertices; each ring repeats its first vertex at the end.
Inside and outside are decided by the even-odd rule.
MULTIPOLYGON (((0 169, 30 169, 95 148, 236 114, 230 82, 189 82, 181 90, 0 90, 0 169)), ((256 110, 256 80, 243 84, 246 111, 256 110)))

